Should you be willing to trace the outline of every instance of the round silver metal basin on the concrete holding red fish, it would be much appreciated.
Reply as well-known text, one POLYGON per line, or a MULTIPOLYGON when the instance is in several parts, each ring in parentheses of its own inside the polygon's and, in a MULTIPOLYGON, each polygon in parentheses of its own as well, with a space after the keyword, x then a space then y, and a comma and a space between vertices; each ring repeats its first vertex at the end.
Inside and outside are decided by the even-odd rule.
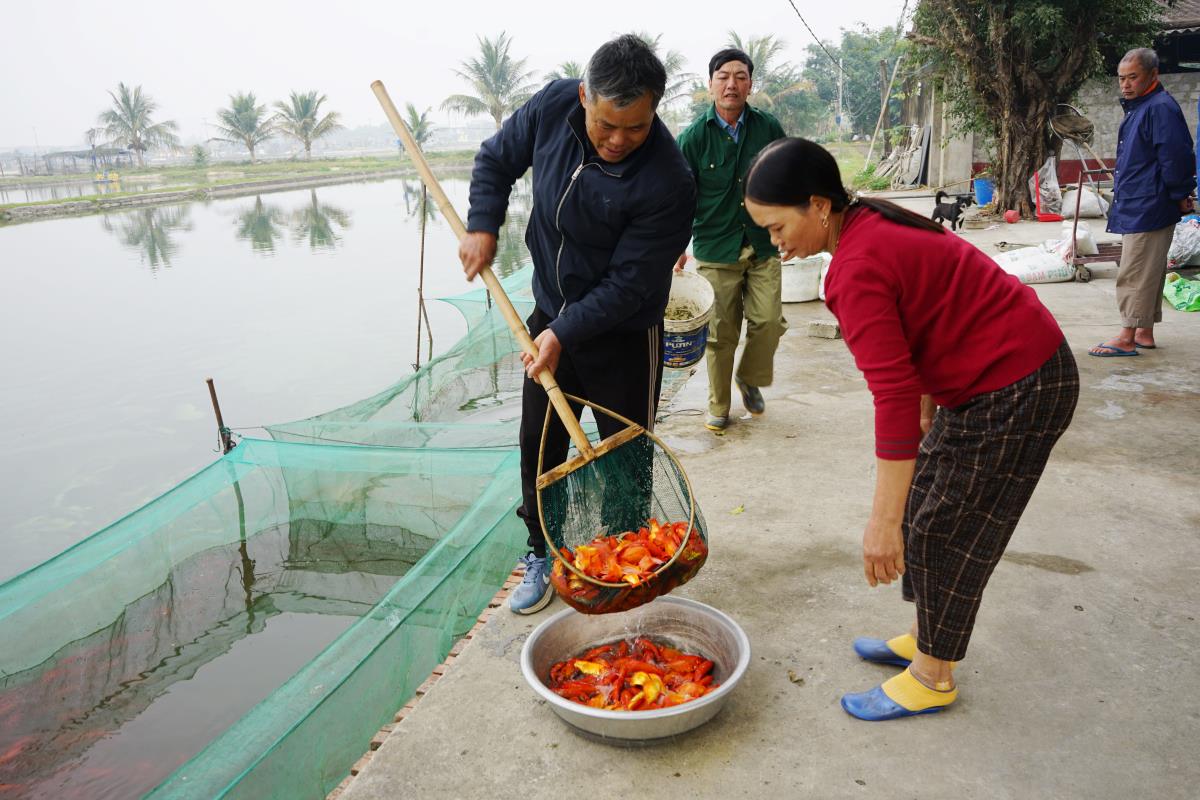
POLYGON ((521 650, 521 672, 554 714, 589 739, 625 746, 656 744, 704 724, 725 705, 749 664, 750 639, 737 622, 712 606, 670 596, 619 614, 589 615, 568 608, 539 625, 521 650), (593 709, 546 687, 554 662, 635 636, 666 640, 712 660, 720 686, 698 699, 653 711, 593 709))

